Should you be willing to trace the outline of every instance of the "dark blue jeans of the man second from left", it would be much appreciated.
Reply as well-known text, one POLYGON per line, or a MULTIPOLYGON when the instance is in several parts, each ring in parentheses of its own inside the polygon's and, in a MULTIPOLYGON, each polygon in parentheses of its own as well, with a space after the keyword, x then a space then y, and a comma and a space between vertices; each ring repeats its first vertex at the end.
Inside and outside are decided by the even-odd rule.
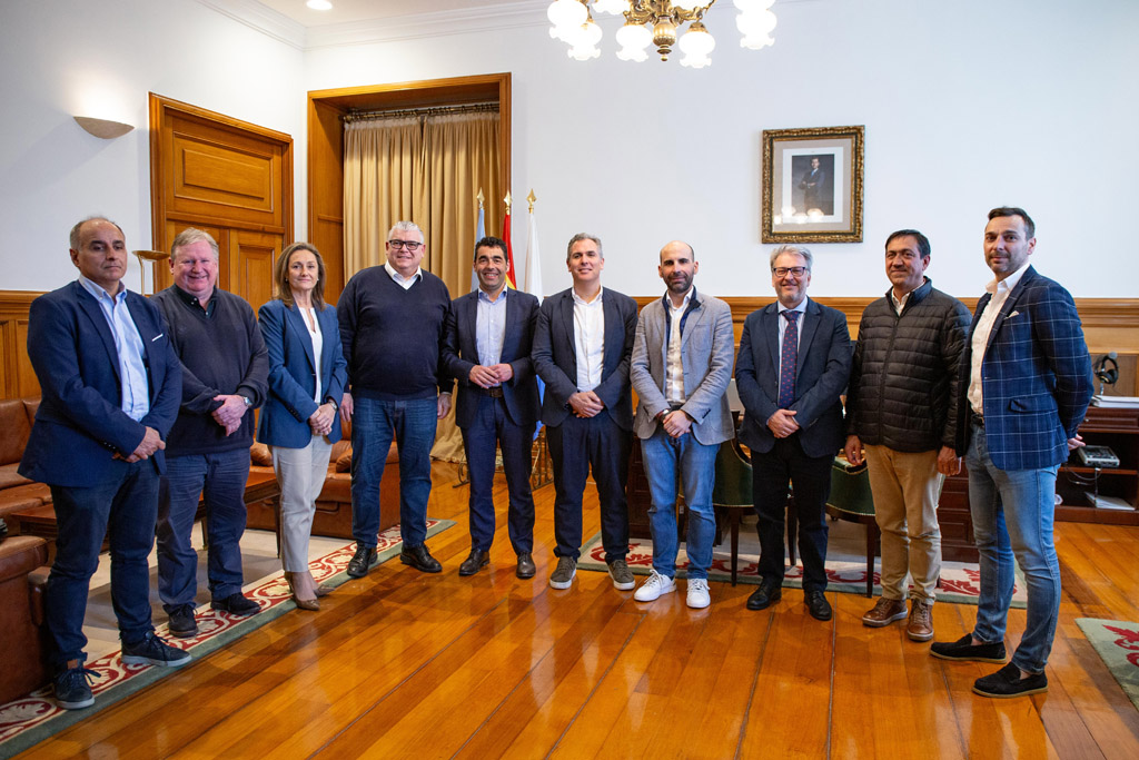
POLYGON ((166 457, 158 498, 158 596, 166 612, 195 604, 198 555, 190 544, 198 500, 206 508, 206 574, 210 595, 241 593, 241 534, 249 450, 166 457))

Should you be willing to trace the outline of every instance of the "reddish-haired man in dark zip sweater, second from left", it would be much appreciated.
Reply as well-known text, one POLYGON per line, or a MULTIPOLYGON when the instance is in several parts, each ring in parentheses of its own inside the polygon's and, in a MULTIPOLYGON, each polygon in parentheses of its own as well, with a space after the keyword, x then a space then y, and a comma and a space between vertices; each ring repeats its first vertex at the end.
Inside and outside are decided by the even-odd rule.
POLYGON ((194 636, 197 554, 190 531, 205 495, 211 606, 235 615, 261 607, 241 594, 245 482, 253 410, 269 390, 269 359, 253 309, 216 289, 218 243, 188 228, 171 245, 174 284, 154 296, 182 362, 182 406, 166 439, 158 502, 158 595, 170 632, 194 636))

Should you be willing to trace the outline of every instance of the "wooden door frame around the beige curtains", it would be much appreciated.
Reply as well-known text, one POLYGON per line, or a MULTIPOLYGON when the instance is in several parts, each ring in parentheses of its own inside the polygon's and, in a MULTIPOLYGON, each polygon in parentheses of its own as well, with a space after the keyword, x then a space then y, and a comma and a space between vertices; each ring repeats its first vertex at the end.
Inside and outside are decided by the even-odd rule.
POLYGON ((327 273, 326 297, 329 301, 335 301, 335 296, 344 288, 346 279, 344 203, 343 194, 338 198, 321 199, 318 199, 317 194, 318 183, 330 171, 338 171, 343 185, 344 140, 343 130, 337 136, 330 136, 331 139, 321 139, 327 134, 322 114, 327 116, 334 113, 343 116, 352 109, 384 111, 486 101, 497 101, 499 106, 499 180, 501 187, 509 188, 511 136, 509 72, 309 92, 309 240, 320 251, 327 251, 323 259, 327 273), (333 162, 337 163, 338 170, 329 165, 333 162), (339 240, 334 240, 321 231, 321 226, 329 223, 339 227, 339 240))

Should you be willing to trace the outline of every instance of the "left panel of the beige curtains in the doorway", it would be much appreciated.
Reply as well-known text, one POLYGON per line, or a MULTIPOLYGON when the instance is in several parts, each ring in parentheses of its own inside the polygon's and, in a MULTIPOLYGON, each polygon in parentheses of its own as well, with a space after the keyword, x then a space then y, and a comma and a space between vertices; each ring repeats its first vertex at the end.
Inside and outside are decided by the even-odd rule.
POLYGON ((392 223, 425 205, 423 126, 416 116, 344 125, 344 278, 382 264, 392 223))

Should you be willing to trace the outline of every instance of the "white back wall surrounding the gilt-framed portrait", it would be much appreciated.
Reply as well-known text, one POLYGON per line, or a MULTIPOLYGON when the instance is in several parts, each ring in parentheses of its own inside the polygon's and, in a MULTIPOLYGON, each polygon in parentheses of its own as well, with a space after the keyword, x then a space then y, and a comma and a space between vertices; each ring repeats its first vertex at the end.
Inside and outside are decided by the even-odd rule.
POLYGON ((539 197, 547 292, 568 285, 565 242, 585 229, 605 242, 605 281, 626 293, 661 289, 656 252, 673 237, 695 245, 698 287, 770 293, 762 130, 865 124, 866 243, 810 246, 813 294, 884 292, 883 242, 916 227, 933 243, 936 285, 977 295, 991 277, 985 213, 1013 204, 1036 221, 1041 271, 1077 296, 1139 295, 1132 246, 1091 234, 1092 220, 1139 201, 1139 2, 782 0, 773 10, 775 47, 749 51, 731 3, 718 3, 703 71, 617 60, 615 19, 603 17, 603 56, 588 63, 524 27, 314 49, 305 75, 321 89, 513 72, 511 189, 539 197), (1073 267, 1091 245, 1097 267, 1073 267))

